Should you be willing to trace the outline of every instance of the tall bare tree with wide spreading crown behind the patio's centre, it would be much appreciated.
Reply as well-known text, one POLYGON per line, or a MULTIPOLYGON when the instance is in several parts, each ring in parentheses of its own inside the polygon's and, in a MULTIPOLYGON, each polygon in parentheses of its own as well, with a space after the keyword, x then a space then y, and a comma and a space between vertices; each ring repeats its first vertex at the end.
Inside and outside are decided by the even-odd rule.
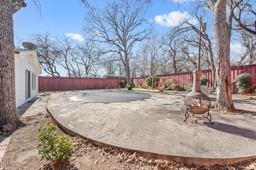
POLYGON ((124 53, 124 63, 127 83, 130 83, 130 66, 128 55, 136 42, 147 39, 153 29, 143 18, 148 8, 147 1, 122 0, 120 3, 112 2, 104 10, 90 8, 85 18, 87 24, 84 31, 91 36, 90 40, 100 44, 109 45, 106 53, 124 53), (148 28, 140 26, 148 25, 148 28), (95 33, 97 30, 97 34, 95 33), (94 32, 94 33, 93 33, 94 32), (93 34, 92 34, 93 33, 93 34))

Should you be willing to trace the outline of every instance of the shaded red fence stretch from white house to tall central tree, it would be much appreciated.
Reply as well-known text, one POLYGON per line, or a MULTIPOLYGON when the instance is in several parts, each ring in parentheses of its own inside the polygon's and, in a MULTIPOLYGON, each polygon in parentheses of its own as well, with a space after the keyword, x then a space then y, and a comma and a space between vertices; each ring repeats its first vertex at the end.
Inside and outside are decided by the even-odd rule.
MULTIPOLYGON (((109 78, 74 78, 74 77, 38 77, 38 91, 71 91, 86 89, 113 89, 118 88, 119 80, 109 78)), ((120 84, 121 85, 121 84, 120 84)))

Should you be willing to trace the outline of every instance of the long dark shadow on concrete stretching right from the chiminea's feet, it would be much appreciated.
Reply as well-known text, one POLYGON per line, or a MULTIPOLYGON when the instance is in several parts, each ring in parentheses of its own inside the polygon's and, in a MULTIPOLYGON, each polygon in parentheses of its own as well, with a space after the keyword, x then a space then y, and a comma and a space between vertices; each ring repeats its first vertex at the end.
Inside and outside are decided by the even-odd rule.
POLYGON ((219 130, 229 134, 234 134, 236 136, 242 136, 245 138, 256 140, 256 131, 254 130, 237 127, 234 125, 228 125, 224 123, 218 123, 218 122, 214 122, 214 125, 212 125, 210 122, 204 122, 204 125, 206 125, 207 127, 213 128, 215 130, 219 130))

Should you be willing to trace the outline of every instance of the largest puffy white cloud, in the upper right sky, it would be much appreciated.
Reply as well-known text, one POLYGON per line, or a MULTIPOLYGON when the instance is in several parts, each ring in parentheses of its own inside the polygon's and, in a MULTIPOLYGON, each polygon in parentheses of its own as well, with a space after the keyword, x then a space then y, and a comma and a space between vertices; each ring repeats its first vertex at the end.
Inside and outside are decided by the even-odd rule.
POLYGON ((165 27, 175 27, 180 25, 183 21, 187 21, 190 24, 196 25, 197 20, 188 14, 187 11, 181 13, 180 11, 174 11, 169 13, 168 15, 162 14, 155 16, 156 24, 165 27))

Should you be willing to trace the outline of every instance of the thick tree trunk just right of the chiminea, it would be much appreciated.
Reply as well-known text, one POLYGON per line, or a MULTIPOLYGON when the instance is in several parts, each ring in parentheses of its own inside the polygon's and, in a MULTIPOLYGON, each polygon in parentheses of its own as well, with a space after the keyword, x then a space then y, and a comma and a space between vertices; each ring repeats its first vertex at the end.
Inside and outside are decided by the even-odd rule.
POLYGON ((216 86, 218 88, 214 108, 219 111, 236 110, 231 93, 230 34, 226 22, 226 1, 208 0, 213 12, 213 28, 216 47, 216 86))

